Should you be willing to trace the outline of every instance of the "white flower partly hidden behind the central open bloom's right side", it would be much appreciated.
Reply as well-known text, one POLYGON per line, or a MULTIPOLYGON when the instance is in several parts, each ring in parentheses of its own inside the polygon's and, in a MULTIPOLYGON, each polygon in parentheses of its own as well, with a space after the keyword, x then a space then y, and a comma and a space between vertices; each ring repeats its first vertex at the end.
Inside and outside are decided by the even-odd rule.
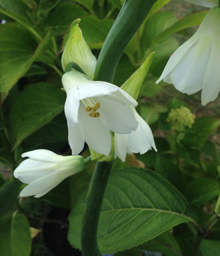
POLYGON ((123 162, 127 153, 144 154, 152 147, 157 151, 150 126, 141 118, 135 108, 132 110, 138 122, 138 129, 130 134, 114 134, 114 156, 115 158, 118 156, 123 162))

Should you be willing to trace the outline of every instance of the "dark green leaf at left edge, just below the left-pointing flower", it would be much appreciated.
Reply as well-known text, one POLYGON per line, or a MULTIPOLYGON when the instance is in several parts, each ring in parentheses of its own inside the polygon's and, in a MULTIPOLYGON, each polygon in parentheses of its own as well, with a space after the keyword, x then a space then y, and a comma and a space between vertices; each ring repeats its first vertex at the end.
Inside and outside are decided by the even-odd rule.
POLYGON ((0 218, 12 209, 17 199, 20 182, 7 182, 0 188, 0 218))

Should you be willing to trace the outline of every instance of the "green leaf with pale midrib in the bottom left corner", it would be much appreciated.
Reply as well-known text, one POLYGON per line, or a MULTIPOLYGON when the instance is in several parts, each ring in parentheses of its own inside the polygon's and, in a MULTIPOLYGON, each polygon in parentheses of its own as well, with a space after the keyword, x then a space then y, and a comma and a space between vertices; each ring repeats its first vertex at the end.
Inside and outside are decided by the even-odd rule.
POLYGON ((0 219, 0 255, 29 256, 31 252, 30 226, 22 214, 0 219))

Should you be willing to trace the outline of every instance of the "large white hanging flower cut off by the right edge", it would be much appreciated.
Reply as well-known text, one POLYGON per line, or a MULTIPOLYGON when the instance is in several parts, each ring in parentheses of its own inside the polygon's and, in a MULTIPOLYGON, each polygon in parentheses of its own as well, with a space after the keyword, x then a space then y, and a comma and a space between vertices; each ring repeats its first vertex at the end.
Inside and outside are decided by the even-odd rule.
POLYGON ((196 33, 169 58, 161 77, 180 92, 202 89, 202 105, 215 100, 220 90, 220 8, 212 7, 196 33))

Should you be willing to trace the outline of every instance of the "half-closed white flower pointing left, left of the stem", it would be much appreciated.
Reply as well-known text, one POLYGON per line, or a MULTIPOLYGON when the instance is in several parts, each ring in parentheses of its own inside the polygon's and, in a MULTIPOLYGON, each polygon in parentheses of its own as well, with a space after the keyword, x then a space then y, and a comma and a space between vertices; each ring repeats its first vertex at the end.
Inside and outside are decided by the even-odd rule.
POLYGON ((84 169, 82 156, 59 156, 49 150, 34 150, 21 156, 29 158, 14 170, 14 177, 29 185, 20 196, 40 198, 65 178, 84 169))

